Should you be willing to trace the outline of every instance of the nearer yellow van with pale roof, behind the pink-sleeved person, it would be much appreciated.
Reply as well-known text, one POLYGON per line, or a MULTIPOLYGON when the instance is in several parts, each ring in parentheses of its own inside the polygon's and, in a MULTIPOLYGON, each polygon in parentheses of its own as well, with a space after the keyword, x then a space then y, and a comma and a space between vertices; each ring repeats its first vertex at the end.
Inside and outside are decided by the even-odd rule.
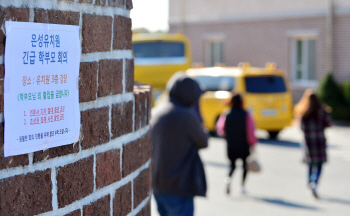
POLYGON ((267 130, 271 138, 276 138, 292 122, 290 85, 285 73, 274 63, 267 63, 265 68, 251 67, 249 63, 238 67, 192 68, 186 73, 205 91, 199 107, 203 123, 210 131, 215 131, 219 115, 228 110, 232 91, 243 95, 244 107, 252 114, 257 128, 267 130))

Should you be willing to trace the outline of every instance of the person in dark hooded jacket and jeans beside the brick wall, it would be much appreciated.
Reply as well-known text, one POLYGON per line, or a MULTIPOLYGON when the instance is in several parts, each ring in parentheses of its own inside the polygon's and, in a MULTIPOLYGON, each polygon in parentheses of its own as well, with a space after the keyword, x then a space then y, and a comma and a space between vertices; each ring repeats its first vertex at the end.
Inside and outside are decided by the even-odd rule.
POLYGON ((152 187, 161 216, 192 216, 194 196, 207 190, 198 150, 208 135, 193 109, 202 90, 184 73, 173 75, 167 90, 169 100, 152 110, 152 187))

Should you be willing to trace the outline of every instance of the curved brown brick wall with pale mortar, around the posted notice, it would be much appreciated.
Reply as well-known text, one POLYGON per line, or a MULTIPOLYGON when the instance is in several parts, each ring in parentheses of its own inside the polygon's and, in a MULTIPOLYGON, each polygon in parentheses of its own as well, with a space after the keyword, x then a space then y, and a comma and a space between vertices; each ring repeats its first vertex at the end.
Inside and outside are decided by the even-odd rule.
POLYGON ((0 1, 0 215, 150 215, 151 88, 134 85, 131 0, 0 1), (4 158, 6 20, 80 26, 77 143, 4 158))

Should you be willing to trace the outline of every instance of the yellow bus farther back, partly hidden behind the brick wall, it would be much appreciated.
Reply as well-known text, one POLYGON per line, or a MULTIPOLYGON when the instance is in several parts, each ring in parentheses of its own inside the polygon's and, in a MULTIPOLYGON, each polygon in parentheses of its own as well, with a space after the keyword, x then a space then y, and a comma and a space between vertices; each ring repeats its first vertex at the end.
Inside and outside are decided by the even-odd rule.
POLYGON ((151 85, 155 94, 174 73, 191 67, 190 42, 183 34, 136 33, 132 42, 135 81, 151 85))

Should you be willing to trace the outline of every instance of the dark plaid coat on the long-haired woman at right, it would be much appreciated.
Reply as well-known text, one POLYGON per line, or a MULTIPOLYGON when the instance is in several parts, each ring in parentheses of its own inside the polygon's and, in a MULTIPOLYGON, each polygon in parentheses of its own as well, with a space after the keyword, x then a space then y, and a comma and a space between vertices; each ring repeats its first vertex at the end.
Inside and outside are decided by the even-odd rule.
POLYGON ((320 110, 318 115, 314 117, 301 119, 301 129, 304 132, 306 143, 305 160, 307 163, 318 164, 327 161, 324 129, 329 126, 331 126, 330 115, 324 110, 320 110))

